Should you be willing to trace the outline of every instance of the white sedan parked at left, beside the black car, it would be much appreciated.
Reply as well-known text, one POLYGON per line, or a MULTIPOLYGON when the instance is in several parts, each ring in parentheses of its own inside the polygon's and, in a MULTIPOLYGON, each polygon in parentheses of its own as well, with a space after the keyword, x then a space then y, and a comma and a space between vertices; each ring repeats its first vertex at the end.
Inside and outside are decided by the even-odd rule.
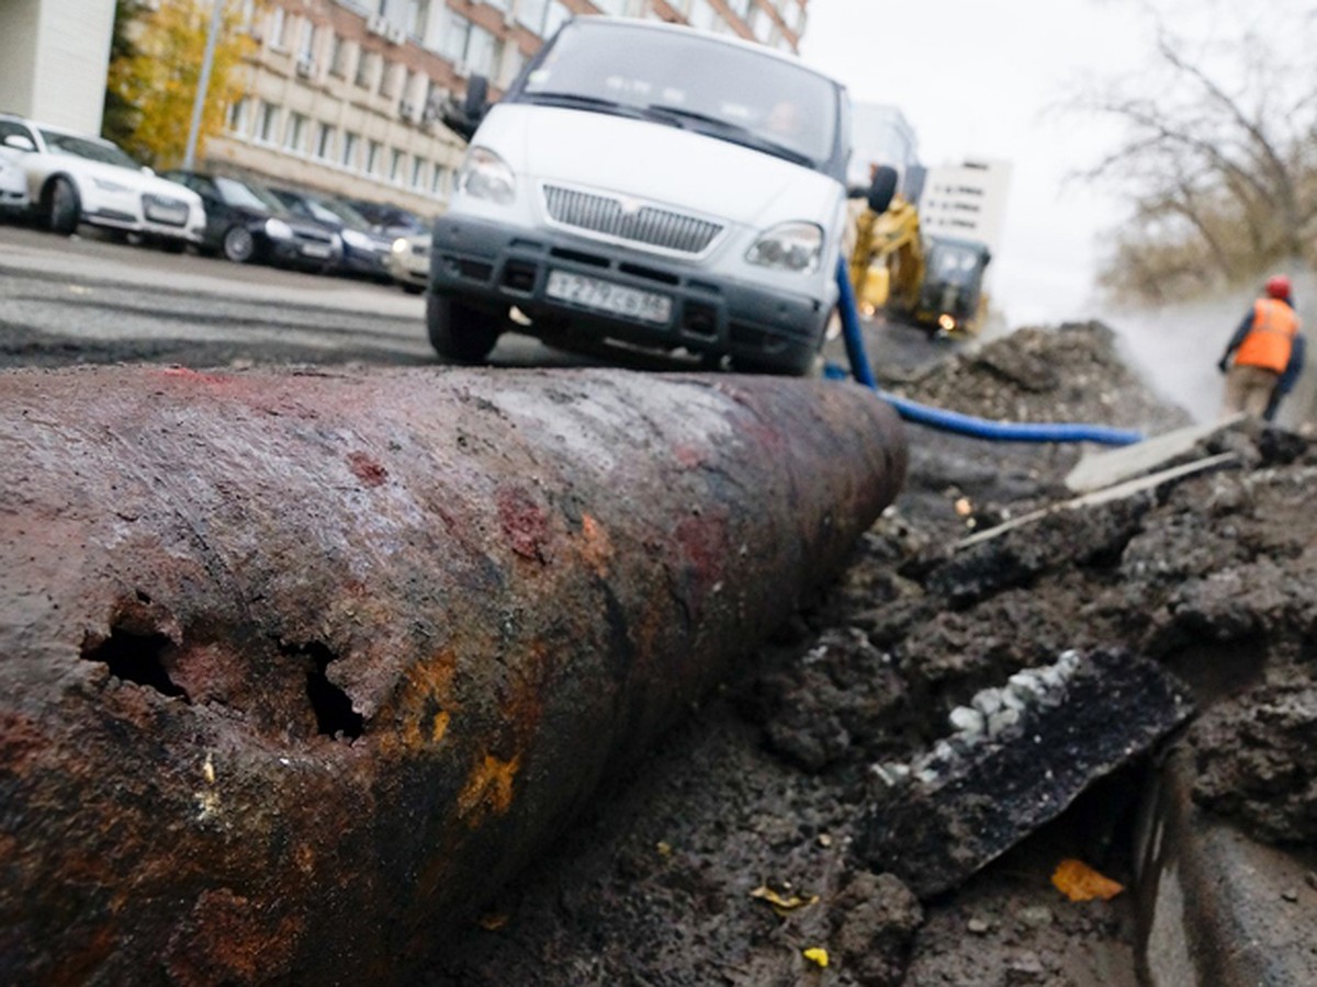
POLYGON ((0 157, 22 171, 29 212, 55 233, 87 222, 182 249, 205 230, 196 192, 104 138, 0 113, 0 157))

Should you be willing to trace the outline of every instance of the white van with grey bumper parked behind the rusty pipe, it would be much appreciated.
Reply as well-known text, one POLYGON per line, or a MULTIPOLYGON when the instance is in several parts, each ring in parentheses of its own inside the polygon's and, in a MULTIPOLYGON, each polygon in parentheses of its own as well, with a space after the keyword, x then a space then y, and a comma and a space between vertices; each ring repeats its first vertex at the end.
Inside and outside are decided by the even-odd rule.
POLYGON ((839 83, 760 45, 579 17, 494 107, 483 92, 473 79, 470 149, 435 225, 441 355, 481 361, 515 329, 814 366, 847 221, 839 83))

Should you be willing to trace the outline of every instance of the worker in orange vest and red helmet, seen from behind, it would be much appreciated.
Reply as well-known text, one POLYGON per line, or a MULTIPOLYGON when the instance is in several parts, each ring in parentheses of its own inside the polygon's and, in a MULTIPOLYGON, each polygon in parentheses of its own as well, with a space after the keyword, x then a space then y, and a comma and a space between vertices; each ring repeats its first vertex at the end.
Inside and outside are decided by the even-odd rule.
POLYGON ((1217 367, 1226 375, 1222 417, 1247 412, 1271 421, 1280 399, 1289 392, 1304 367, 1304 337, 1291 297, 1289 279, 1267 280, 1266 296, 1226 343, 1217 367))

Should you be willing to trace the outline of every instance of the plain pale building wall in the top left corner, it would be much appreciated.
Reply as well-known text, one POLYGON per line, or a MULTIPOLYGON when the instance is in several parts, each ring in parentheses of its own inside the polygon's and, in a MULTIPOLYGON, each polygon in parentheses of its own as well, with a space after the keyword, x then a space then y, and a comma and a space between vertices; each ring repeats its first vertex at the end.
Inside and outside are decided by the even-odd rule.
POLYGON ((113 0, 0 0, 0 109, 100 133, 113 0))

